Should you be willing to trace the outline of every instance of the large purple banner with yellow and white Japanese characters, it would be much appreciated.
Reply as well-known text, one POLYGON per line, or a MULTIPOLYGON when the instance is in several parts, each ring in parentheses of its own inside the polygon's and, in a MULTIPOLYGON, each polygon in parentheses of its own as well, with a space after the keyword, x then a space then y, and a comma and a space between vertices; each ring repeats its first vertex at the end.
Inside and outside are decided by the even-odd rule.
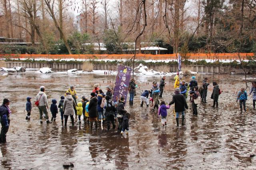
POLYGON ((126 65, 118 64, 116 83, 114 87, 114 95, 112 101, 116 102, 116 97, 124 97, 124 102, 126 103, 128 87, 130 83, 132 68, 126 65))

